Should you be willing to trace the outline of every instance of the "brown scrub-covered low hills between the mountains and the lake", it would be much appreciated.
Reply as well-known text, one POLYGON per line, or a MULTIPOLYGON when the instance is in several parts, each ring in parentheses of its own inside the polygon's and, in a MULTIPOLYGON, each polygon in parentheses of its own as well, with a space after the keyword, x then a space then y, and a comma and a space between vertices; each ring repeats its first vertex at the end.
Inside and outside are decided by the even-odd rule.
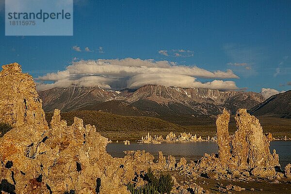
MULTIPOLYGON (((48 123, 53 113, 46 113, 48 123)), ((95 125, 97 131, 103 136, 112 140, 136 141, 145 136, 147 132, 151 135, 167 135, 170 131, 179 134, 190 132, 206 138, 216 135, 216 116, 213 115, 164 115, 160 118, 146 116, 121 116, 102 111, 72 111, 61 113, 61 118, 66 120, 68 125, 73 123, 74 117, 83 119, 84 124, 95 125), (162 120, 164 119, 164 120, 162 120)), ((264 132, 271 132, 274 137, 291 138, 291 119, 259 116, 259 121, 264 132)), ((234 116, 231 116, 229 132, 236 130, 234 116)))

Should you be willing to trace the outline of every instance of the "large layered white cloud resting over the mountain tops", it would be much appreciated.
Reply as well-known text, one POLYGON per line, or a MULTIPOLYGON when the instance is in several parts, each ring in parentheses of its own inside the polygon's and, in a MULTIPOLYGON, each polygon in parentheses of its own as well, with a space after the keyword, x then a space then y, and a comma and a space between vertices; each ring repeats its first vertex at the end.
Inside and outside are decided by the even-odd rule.
POLYGON ((48 73, 38 81, 53 81, 38 84, 39 90, 53 87, 100 86, 111 89, 138 88, 146 84, 161 84, 179 87, 204 87, 211 89, 237 89, 234 81, 213 80, 206 83, 196 78, 238 78, 231 70, 208 71, 197 66, 177 65, 168 61, 141 59, 98 59, 72 62, 64 71, 48 73))

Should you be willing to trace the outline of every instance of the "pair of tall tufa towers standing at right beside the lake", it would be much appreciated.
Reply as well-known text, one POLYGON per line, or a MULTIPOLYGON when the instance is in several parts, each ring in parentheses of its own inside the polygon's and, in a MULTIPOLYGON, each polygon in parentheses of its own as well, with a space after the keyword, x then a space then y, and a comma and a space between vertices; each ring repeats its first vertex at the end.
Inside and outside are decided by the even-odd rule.
POLYGON ((269 141, 263 134, 259 120, 239 109, 235 116, 237 131, 228 135, 229 113, 217 116, 217 144, 221 165, 226 164, 232 171, 247 170, 258 177, 274 177, 275 167, 280 167, 276 151, 269 150, 269 141))

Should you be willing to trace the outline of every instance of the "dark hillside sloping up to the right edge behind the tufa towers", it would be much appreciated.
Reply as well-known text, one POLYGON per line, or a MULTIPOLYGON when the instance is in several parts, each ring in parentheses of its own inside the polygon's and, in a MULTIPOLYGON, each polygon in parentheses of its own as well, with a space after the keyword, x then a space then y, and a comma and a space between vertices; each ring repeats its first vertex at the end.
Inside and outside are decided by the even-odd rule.
POLYGON ((255 116, 291 118, 291 90, 269 97, 252 108, 249 113, 255 116))

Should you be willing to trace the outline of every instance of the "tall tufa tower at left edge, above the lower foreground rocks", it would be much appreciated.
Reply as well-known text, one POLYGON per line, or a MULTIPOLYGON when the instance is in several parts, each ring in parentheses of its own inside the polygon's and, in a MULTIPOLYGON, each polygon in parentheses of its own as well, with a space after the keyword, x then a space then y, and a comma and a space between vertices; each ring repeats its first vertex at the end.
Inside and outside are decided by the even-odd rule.
POLYGON ((42 101, 36 92, 32 76, 22 73, 17 63, 3 65, 0 72, 0 122, 14 127, 47 126, 42 101))

